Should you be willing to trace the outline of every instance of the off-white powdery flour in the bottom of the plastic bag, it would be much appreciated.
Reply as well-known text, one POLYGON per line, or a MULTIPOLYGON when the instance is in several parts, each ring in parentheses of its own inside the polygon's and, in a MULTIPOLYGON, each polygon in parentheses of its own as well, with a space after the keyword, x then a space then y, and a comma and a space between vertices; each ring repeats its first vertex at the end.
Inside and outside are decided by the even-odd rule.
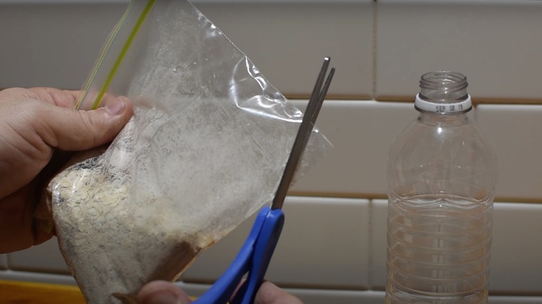
POLYGON ((173 280, 213 240, 196 239, 163 214, 140 217, 129 189, 101 169, 91 158, 59 174, 52 207, 60 249, 85 298, 118 303, 113 293, 135 295, 145 282, 173 280))

